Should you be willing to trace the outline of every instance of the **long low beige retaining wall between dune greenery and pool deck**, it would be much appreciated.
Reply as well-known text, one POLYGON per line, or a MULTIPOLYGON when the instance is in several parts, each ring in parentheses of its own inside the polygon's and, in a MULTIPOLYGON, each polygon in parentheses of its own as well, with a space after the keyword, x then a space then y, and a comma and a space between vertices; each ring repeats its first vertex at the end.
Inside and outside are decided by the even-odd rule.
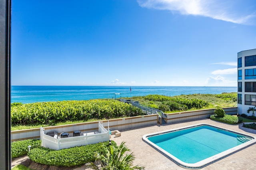
MULTIPOLYGON (((237 107, 226 107, 223 108, 226 114, 235 115, 237 113, 237 107)), ((184 111, 178 113, 165 114, 167 118, 166 123, 178 123, 184 121, 193 121, 198 119, 204 119, 210 117, 214 114, 214 109, 204 109, 196 111, 184 111)), ((108 128, 108 120, 101 121, 103 126, 108 128)), ((126 117, 121 119, 110 119, 109 128, 111 131, 118 130, 122 131, 125 129, 145 127, 149 125, 156 125, 158 122, 158 115, 145 115, 136 117, 126 117)), ((71 125, 60 125, 60 126, 50 126, 44 127, 44 133, 55 131, 58 134, 62 132, 68 132, 70 137, 73 136, 74 131, 81 131, 82 133, 89 133, 98 130, 98 121, 87 122, 87 123, 77 123, 71 125)), ((40 128, 18 130, 11 132, 12 141, 20 141, 24 139, 39 139, 40 138, 40 128)))

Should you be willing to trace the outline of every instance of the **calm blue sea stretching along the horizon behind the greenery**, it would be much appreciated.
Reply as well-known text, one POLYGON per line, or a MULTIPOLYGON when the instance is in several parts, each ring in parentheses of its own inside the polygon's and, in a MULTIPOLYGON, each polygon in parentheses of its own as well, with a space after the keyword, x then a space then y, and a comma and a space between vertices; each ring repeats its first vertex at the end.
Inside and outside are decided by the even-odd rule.
POLYGON ((237 92, 237 87, 185 86, 11 86, 11 103, 52 102, 62 100, 90 100, 160 94, 221 94, 237 92))

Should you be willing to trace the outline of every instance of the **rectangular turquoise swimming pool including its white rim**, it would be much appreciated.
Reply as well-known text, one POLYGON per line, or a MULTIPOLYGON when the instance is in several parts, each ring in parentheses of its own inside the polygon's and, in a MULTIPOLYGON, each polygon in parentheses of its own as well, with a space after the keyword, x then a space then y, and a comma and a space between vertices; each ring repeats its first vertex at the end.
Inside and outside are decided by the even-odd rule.
POLYGON ((142 139, 189 169, 202 168, 256 143, 252 136, 208 124, 151 133, 142 139))

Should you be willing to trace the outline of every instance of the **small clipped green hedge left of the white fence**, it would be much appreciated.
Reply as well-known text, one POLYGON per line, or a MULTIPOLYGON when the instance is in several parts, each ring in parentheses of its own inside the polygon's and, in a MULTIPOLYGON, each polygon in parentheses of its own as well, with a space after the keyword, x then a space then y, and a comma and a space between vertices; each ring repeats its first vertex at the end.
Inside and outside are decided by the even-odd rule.
POLYGON ((27 154, 29 145, 31 146, 30 149, 41 147, 41 140, 28 139, 11 143, 12 158, 17 158, 19 156, 27 154))

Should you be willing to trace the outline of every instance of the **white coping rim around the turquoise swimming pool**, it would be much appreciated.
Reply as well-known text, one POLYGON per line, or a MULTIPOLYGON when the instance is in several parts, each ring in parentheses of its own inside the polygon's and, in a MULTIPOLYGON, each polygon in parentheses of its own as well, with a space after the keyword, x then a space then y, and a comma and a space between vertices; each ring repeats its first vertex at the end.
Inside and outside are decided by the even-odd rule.
POLYGON ((150 133, 150 134, 146 134, 146 135, 143 135, 142 137, 142 140, 144 142, 146 142, 148 145, 150 145, 151 147, 153 147, 154 149, 156 149, 158 152, 162 153, 164 156, 166 156, 167 158, 169 158, 170 160, 172 160, 173 162, 175 162, 176 164, 178 164, 179 166, 183 167, 183 168, 187 168, 187 169, 200 169, 200 168, 203 168, 209 164, 212 164, 218 160, 221 160, 223 158, 226 158, 227 156, 230 156, 231 154, 234 154, 242 149, 245 149, 251 145, 254 145, 256 143, 256 139, 255 137, 251 136, 251 135, 247 135, 247 134, 244 134, 244 133, 240 133, 240 132, 237 132, 237 131, 232 131, 232 130, 229 130, 229 129, 224 129, 222 127, 218 127, 218 126, 214 126, 214 125, 210 125, 210 124, 206 124, 206 123, 200 123, 200 124, 196 124, 196 125, 190 125, 190 126, 186 126, 186 127, 182 127, 182 128, 176 128, 176 129, 170 129, 170 130, 166 130, 166 131, 160 131, 160 132, 156 132, 156 133, 150 133), (194 164, 190 164, 190 163, 186 163, 186 162, 183 162, 181 161, 180 159, 176 158, 175 156, 173 156, 172 154, 166 152, 166 150, 158 147, 157 145, 155 145, 154 143, 152 143, 151 141, 149 141, 147 138, 148 137, 152 137, 154 135, 161 135, 161 134, 164 134, 164 133, 169 133, 169 132, 174 132, 174 131, 180 131, 180 130, 183 130, 183 129, 190 129, 190 128, 193 128, 193 127, 198 127, 198 126, 202 126, 202 125, 207 125, 207 126, 210 126, 210 127, 215 127, 215 128, 218 128, 218 129, 222 129, 222 130, 225 130, 225 131, 229 131, 229 132, 232 132, 232 133, 236 133, 236 134, 239 134, 239 135, 243 135, 243 136, 246 136, 246 137, 250 137, 252 138, 252 140, 248 141, 248 142, 245 142, 245 143, 242 143, 236 147, 233 147, 231 149, 228 149, 228 150, 225 150, 224 152, 221 152, 219 154, 216 154, 214 156, 211 156, 209 158, 206 158, 204 160, 201 160, 199 162, 196 162, 194 164))

